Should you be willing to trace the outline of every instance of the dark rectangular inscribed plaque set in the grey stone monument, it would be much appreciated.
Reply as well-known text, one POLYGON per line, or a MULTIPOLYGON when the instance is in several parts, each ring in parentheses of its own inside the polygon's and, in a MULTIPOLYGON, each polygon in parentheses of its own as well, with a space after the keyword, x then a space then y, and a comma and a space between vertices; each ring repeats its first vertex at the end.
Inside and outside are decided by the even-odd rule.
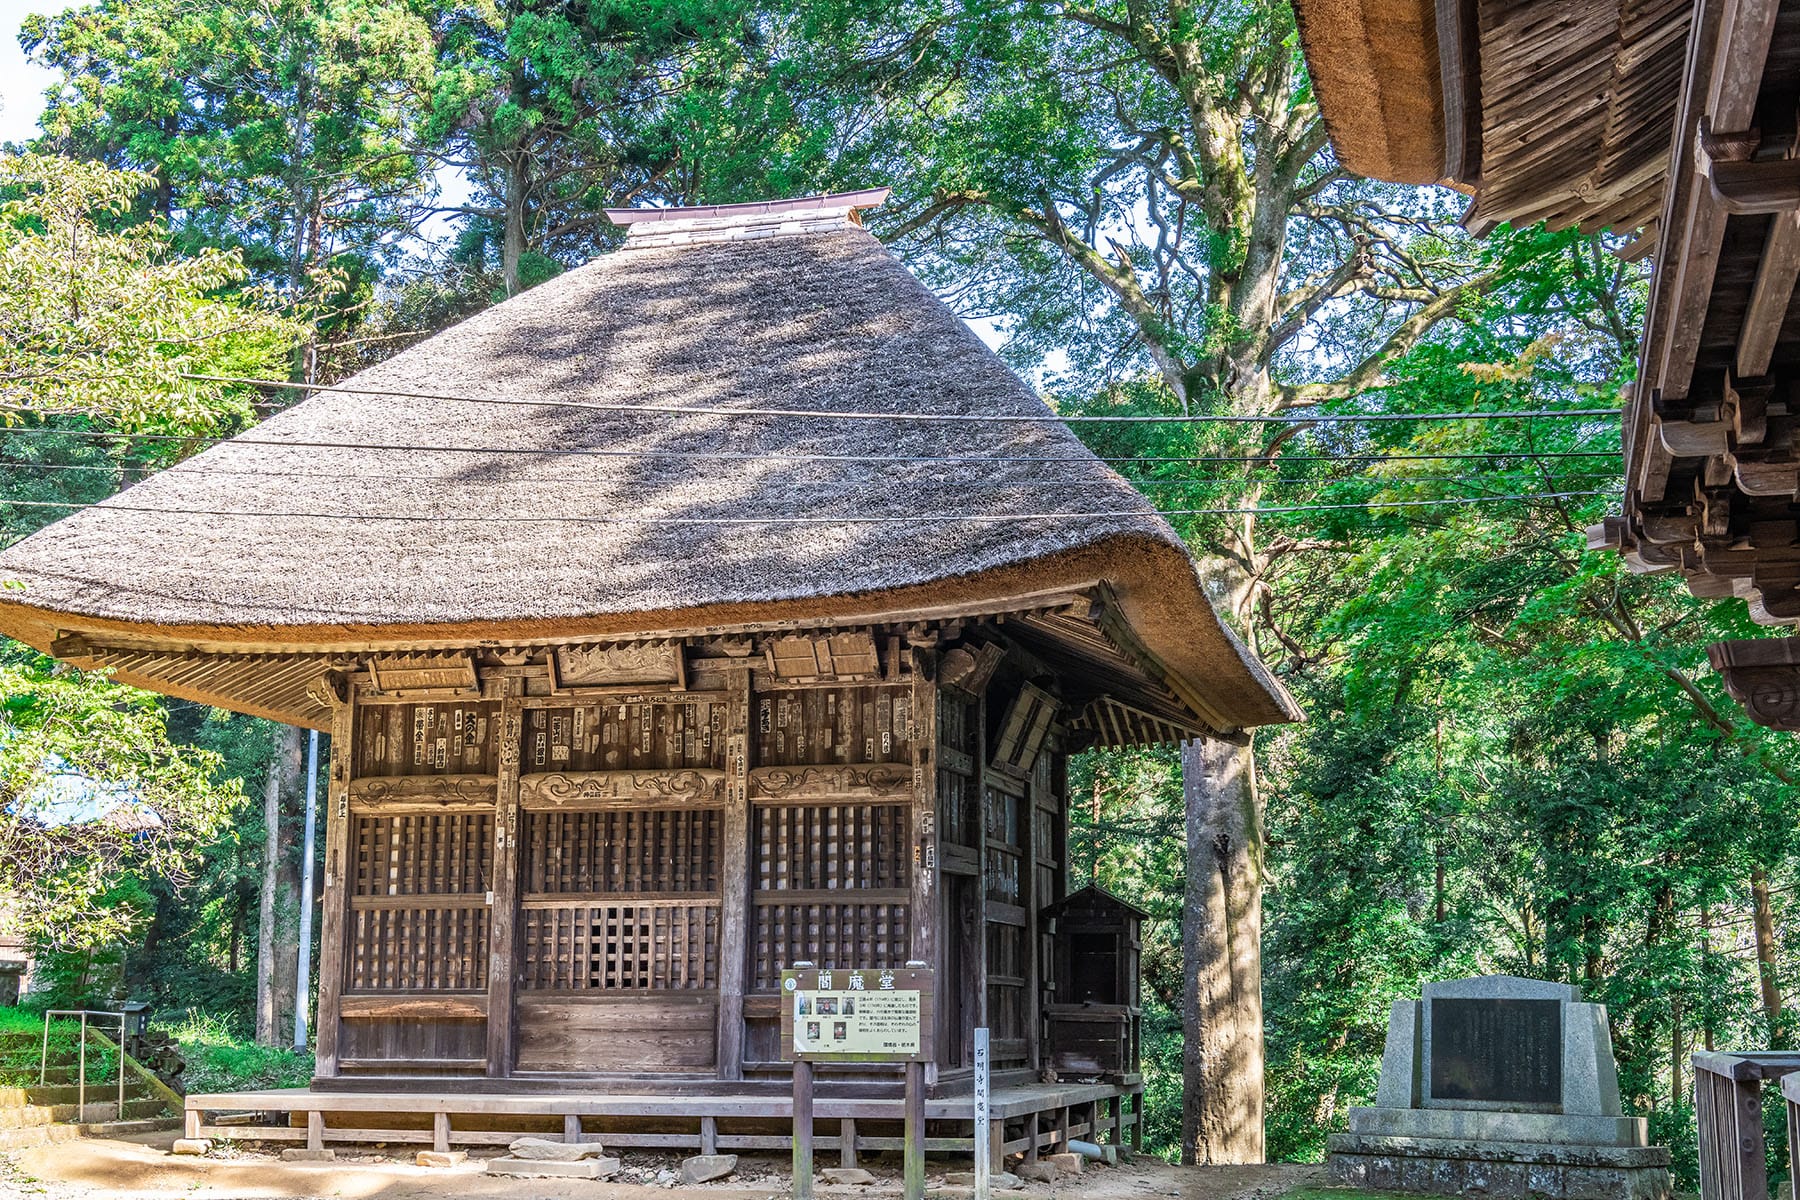
POLYGON ((1561 1000, 1431 1000, 1431 1099, 1562 1103, 1561 1000))

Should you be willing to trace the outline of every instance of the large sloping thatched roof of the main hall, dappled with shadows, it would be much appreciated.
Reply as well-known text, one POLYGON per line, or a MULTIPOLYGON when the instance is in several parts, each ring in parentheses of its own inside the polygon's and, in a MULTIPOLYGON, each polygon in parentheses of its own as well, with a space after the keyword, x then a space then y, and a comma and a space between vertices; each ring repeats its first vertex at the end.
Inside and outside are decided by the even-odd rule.
POLYGON ((1003 610, 1103 581, 1208 723, 1292 720, 1174 531, 1062 425, 986 419, 1048 410, 846 212, 639 225, 11 547, 0 578, 25 590, 0 630, 286 653, 1003 610))

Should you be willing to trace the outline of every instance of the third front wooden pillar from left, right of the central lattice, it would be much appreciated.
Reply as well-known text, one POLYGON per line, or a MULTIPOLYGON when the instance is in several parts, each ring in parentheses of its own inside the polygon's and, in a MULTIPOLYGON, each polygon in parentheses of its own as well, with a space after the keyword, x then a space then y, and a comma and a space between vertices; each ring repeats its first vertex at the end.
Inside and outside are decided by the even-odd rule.
MULTIPOLYGON (((724 869, 718 898, 718 1078, 743 1078, 743 993, 751 963, 751 671, 725 693, 724 869)), ((713 1153, 713 1151, 706 1151, 713 1153)))

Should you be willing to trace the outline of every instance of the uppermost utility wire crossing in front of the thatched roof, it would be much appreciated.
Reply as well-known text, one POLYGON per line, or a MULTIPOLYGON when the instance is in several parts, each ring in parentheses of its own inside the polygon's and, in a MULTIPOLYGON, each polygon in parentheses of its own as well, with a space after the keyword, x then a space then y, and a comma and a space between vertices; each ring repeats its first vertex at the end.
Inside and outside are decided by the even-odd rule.
MULTIPOLYGON (((70 378, 70 376, 65 376, 70 378)), ((130 374, 74 376, 90 380, 133 380, 130 374)), ((1202 414, 1202 416, 1057 416, 1046 414, 977 414, 977 412, 868 412, 833 408, 727 408, 722 405, 608 405, 592 399, 502 399, 499 396, 450 396, 439 392, 403 392, 376 387, 344 387, 338 383, 293 383, 283 380, 252 380, 236 374, 180 372, 176 378, 200 383, 247 383, 254 387, 290 389, 302 392, 333 392, 340 396, 385 396, 391 399, 427 399, 461 405, 508 405, 515 408, 580 408, 587 412, 706 416, 706 417, 806 417, 821 421, 914 421, 925 425, 1361 425, 1368 421, 1510 421, 1537 417, 1607 417, 1618 419, 1620 408, 1526 408, 1512 412, 1305 412, 1305 414, 1202 414)))

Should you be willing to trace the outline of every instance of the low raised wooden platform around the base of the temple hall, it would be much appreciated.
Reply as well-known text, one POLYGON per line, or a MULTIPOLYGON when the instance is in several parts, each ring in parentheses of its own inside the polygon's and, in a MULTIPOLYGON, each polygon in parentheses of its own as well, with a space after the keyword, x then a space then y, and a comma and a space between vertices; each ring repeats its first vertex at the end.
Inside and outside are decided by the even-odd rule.
MULTIPOLYGON (((859 1151, 900 1150, 904 1101, 832 1096, 814 1099, 814 1146, 837 1150, 846 1164, 859 1151), (830 1124, 837 1133, 828 1135, 830 1124)), ((232 1141, 418 1142, 504 1146, 520 1133, 563 1141, 598 1139, 607 1146, 695 1150, 787 1150, 792 1096, 767 1090, 670 1096, 666 1092, 320 1092, 270 1088, 187 1097, 185 1135, 232 1141), (279 1114, 279 1115, 277 1115, 279 1114), (378 1119, 376 1119, 378 1117, 378 1119)), ((925 1150, 974 1153, 974 1099, 925 1101, 925 1150)), ((1141 1144, 1143 1083, 1033 1083, 995 1088, 986 1137, 995 1155, 1039 1153, 1071 1137, 1141 1144)))

